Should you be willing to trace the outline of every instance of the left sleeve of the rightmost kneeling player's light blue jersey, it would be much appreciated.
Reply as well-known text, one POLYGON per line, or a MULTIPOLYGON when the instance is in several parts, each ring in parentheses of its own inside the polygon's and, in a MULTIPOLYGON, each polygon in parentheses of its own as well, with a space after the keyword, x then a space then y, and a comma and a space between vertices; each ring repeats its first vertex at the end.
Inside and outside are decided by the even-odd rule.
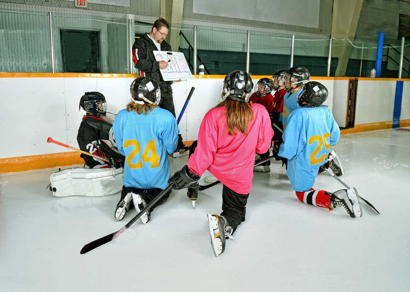
POLYGON ((305 147, 306 131, 303 115, 299 114, 297 110, 290 114, 282 139, 283 143, 280 145, 278 153, 280 157, 296 158, 305 147))

